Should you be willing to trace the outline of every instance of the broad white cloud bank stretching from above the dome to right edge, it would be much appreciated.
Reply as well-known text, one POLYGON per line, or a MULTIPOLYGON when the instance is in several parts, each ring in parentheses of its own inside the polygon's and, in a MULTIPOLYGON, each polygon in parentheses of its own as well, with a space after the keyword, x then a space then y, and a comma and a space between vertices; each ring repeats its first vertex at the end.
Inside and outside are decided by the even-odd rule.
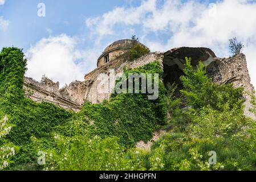
POLYGON ((256 86, 256 3, 251 0, 224 0, 216 4, 200 1, 166 0, 143 1, 137 7, 116 7, 112 11, 86 20, 92 35, 117 35, 139 26, 141 41, 152 51, 166 51, 173 47, 209 47, 218 56, 229 56, 228 40, 234 36, 243 42, 247 64, 256 86), (151 34, 165 34, 159 41, 151 34), (255 41, 254 41, 255 40, 255 41))

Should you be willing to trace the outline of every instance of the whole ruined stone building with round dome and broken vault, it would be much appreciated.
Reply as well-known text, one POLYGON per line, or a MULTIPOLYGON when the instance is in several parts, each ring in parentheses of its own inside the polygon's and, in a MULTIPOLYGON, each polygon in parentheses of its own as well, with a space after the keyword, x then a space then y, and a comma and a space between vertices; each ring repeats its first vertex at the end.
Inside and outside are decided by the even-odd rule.
MULTIPOLYGON (((104 52, 97 60, 97 68, 84 76, 84 81, 74 81, 70 85, 59 89, 58 82, 52 82, 46 77, 41 82, 25 77, 24 87, 27 97, 34 101, 52 102, 64 109, 78 111, 81 109, 84 101, 90 101, 93 104, 108 100, 111 92, 99 93, 98 87, 101 81, 102 73, 110 74, 115 70, 115 75, 123 73, 123 68, 136 68, 141 65, 160 61, 164 75, 162 80, 166 82, 180 82, 180 76, 183 75, 185 57, 192 58, 192 65, 196 67, 201 60, 207 65, 207 73, 214 82, 219 84, 231 83, 235 87, 242 86, 249 93, 254 90, 250 84, 250 76, 247 69, 245 55, 238 54, 229 58, 218 58, 209 48, 180 47, 173 48, 167 52, 151 52, 137 60, 129 61, 124 59, 125 52, 134 46, 135 40, 117 40, 105 48, 104 52)), ((140 46, 144 46, 141 43, 140 46)), ((145 47, 145 46, 144 46, 145 47)), ((109 85, 112 90, 113 85, 109 85)), ((249 113, 249 94, 246 94, 246 114, 249 113)))

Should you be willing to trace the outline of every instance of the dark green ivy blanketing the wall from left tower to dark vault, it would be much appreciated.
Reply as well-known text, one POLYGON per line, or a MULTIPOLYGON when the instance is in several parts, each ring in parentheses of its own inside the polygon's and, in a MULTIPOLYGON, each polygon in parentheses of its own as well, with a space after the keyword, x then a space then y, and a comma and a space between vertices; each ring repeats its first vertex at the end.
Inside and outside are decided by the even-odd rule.
MULTIPOLYGON (((148 100, 147 94, 113 94, 110 101, 101 104, 86 102, 82 111, 73 113, 24 97, 26 59, 21 49, 3 48, 0 68, 0 110, 10 115, 10 123, 15 125, 8 139, 20 147, 14 156, 13 169, 27 169, 27 164, 37 165, 37 152, 42 148, 32 142, 35 138, 42 140, 45 148, 52 148, 56 134, 83 133, 90 138, 95 135, 118 137, 121 146, 132 147, 140 140, 151 139, 153 132, 166 122, 166 90, 162 82, 157 100, 148 100)), ((161 78, 162 75, 159 61, 124 72, 126 76, 128 73, 159 73, 161 78)))

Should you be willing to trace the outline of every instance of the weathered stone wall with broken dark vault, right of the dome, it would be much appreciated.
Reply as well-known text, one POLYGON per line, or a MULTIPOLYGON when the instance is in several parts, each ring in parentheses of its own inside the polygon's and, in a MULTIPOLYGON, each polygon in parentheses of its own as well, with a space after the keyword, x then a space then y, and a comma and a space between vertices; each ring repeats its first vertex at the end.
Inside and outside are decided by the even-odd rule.
MULTIPOLYGON (((169 76, 173 81, 177 81, 180 76, 184 74, 182 69, 184 68, 183 64, 185 63, 185 56, 192 57, 192 65, 194 65, 195 68, 199 61, 208 65, 207 72, 209 76, 212 77, 213 82, 217 82, 219 84, 231 83, 235 88, 240 86, 245 88, 245 114, 251 118, 255 117, 249 111, 249 108, 251 107, 250 94, 254 91, 254 88, 253 85, 250 84, 251 80, 247 69, 245 55, 241 53, 234 57, 218 58, 214 52, 208 48, 175 48, 165 53, 148 53, 140 59, 132 62, 117 59, 109 65, 103 65, 103 67, 95 69, 84 77, 85 82, 88 83, 85 99, 94 104, 109 99, 111 93, 102 94, 97 92, 97 86, 101 81, 100 73, 109 73, 111 69, 115 69, 115 74, 118 75, 123 73, 124 67, 136 68, 155 60, 160 61, 162 68, 164 69, 164 80, 165 77, 168 78, 169 76), (166 65, 171 69, 166 69, 166 65)), ((109 88, 109 90, 112 89, 113 88, 109 88)))

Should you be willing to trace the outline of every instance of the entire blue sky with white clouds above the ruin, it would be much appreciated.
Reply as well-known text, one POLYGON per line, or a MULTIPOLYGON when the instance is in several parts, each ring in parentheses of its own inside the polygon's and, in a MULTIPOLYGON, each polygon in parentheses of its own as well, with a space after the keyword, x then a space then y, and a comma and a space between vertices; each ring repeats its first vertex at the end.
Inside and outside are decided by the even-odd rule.
POLYGON ((134 34, 151 51, 209 47, 218 57, 237 37, 256 86, 256 1, 0 0, 0 48, 23 48, 38 81, 83 80, 108 44, 134 34))

